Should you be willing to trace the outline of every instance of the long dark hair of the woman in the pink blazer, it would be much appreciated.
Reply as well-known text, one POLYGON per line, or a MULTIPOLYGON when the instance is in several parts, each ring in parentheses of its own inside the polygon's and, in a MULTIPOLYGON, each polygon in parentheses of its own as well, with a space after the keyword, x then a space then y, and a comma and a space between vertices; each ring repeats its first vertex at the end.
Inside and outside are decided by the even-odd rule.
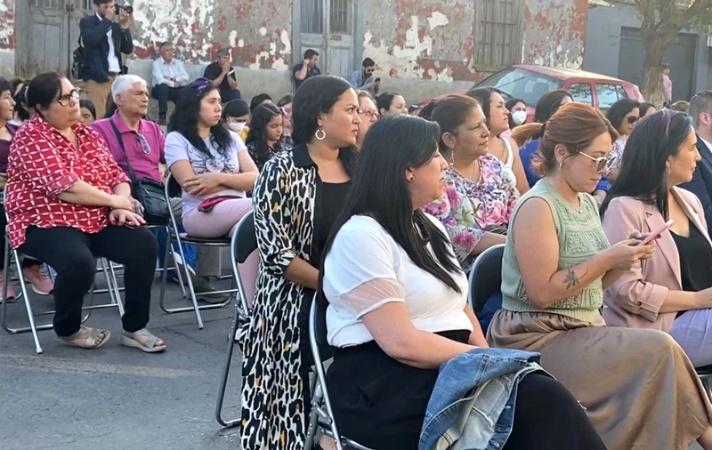
POLYGON ((635 125, 626 141, 618 179, 601 205, 601 217, 613 198, 635 197, 655 205, 667 221, 667 158, 680 152, 689 133, 692 118, 669 109, 656 111, 635 125))

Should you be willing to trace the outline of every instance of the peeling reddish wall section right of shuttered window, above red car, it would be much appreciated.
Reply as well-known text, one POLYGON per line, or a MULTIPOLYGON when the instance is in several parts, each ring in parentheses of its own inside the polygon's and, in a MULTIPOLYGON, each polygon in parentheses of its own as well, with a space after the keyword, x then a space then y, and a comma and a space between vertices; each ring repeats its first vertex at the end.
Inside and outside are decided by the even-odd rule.
POLYGON ((587 12, 587 0, 528 0, 524 15, 524 62, 581 68, 587 12))

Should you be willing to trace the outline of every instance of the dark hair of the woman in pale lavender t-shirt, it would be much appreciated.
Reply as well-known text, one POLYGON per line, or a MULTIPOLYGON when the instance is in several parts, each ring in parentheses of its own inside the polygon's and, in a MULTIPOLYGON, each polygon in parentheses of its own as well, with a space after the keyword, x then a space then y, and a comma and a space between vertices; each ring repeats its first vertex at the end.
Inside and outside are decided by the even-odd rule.
MULTIPOLYGON (((198 117, 200 117, 200 102, 206 98, 207 94, 216 90, 217 86, 205 78, 198 78, 184 87, 175 104, 171 120, 168 122, 169 133, 181 133, 193 147, 211 159, 213 156, 205 141, 198 136, 198 117)), ((223 156, 227 155, 228 149, 232 145, 232 136, 230 131, 223 126, 222 120, 210 128, 210 141, 213 142, 218 152, 223 156)))

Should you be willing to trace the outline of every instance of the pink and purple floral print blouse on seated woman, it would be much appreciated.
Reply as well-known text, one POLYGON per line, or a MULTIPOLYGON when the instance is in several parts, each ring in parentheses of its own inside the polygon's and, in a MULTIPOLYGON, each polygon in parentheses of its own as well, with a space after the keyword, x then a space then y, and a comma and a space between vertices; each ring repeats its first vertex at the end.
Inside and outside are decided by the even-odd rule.
POLYGON ((423 211, 445 225, 457 261, 467 271, 485 229, 509 224, 519 191, 505 165, 491 155, 480 157, 480 182, 469 181, 451 168, 445 171, 445 181, 442 197, 425 205, 423 211))

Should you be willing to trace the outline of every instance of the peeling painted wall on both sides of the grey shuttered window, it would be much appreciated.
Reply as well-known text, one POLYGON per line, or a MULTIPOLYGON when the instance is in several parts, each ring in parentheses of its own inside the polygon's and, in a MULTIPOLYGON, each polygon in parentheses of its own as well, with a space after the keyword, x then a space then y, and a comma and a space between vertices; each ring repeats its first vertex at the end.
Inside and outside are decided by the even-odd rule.
MULTIPOLYGON (((364 0, 363 55, 389 76, 474 81, 472 0, 364 0), (393 28, 393 16, 399 17, 393 28)), ((587 0, 528 0, 524 62, 579 68, 587 0)))

